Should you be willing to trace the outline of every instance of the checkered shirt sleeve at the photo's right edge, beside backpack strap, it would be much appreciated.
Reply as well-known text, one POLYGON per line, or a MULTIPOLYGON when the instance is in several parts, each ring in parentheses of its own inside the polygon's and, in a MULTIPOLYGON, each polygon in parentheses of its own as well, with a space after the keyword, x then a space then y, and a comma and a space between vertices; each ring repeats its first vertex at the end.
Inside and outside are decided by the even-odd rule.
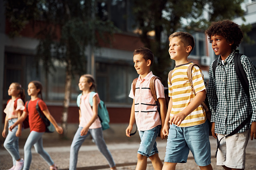
POLYGON ((250 103, 252 106, 251 121, 256 121, 256 70, 251 60, 246 56, 241 57, 241 63, 243 65, 244 71, 246 72, 247 79, 249 82, 249 95, 250 103))

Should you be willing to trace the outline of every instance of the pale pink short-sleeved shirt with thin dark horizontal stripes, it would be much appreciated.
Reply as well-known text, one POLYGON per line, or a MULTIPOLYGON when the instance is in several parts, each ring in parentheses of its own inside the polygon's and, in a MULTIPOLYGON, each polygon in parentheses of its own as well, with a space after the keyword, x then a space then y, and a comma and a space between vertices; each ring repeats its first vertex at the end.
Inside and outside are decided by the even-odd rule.
MULTIPOLYGON (((131 87, 129 94, 129 97, 135 99, 135 120, 138 130, 140 131, 150 130, 161 124, 157 106, 149 87, 150 79, 153 76, 152 72, 149 72, 142 80, 139 76, 136 83, 135 98, 133 94, 133 87, 131 87)), ((163 85, 159 79, 155 80, 155 91, 157 98, 164 98, 163 85)))

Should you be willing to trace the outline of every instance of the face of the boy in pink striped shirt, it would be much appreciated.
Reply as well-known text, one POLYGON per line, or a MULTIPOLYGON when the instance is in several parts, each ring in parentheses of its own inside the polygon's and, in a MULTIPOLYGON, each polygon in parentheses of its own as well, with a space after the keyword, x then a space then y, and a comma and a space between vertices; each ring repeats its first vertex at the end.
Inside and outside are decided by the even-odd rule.
POLYGON ((150 72, 150 60, 145 60, 141 54, 136 54, 133 56, 134 67, 137 73, 143 79, 150 72))

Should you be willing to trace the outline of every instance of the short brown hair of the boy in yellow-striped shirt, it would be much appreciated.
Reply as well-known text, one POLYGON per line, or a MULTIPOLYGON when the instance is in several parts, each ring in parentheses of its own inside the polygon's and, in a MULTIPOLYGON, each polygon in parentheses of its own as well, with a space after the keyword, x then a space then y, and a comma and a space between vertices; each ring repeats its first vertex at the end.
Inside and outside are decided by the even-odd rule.
MULTIPOLYGON (((195 47, 195 39, 191 34, 186 33, 186 32, 176 32, 176 33, 173 33, 172 35, 169 36, 169 41, 172 38, 175 38, 175 37, 180 38, 181 42, 185 46, 191 46, 192 47, 190 53, 193 51, 193 49, 195 47)), ((190 55, 190 53, 189 53, 189 55, 190 55)))

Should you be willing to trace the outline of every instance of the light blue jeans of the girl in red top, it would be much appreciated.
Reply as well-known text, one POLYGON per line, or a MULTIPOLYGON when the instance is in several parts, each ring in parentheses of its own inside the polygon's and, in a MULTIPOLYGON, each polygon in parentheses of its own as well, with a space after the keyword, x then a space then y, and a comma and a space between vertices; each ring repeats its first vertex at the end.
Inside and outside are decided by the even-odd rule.
POLYGON ((44 132, 36 132, 31 131, 27 141, 24 146, 24 167, 23 170, 28 170, 32 161, 32 153, 31 148, 34 145, 35 150, 37 153, 40 154, 44 160, 48 163, 49 166, 53 165, 54 162, 52 161, 50 155, 44 150, 43 148, 43 139, 42 135, 44 132))

